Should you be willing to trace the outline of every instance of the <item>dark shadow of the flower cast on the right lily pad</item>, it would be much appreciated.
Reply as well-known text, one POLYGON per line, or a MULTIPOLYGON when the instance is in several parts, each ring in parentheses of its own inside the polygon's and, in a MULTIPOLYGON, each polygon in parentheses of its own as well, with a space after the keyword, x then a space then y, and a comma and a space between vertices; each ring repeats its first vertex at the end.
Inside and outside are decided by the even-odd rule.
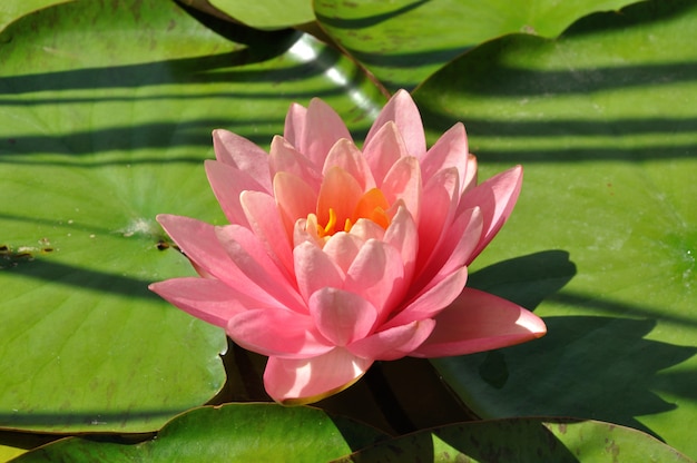
MULTIPOLYGON (((542 299, 575 305, 578 296, 552 294, 575 272, 571 263, 560 258, 565 255, 544 252, 498 263, 474 273, 469 284, 531 309, 542 299)), ((607 311, 608 304, 601 298, 583 301, 595 312, 607 311)), ((541 339, 433 363, 483 416, 592 418, 660 439, 638 417, 678 406, 655 391, 697 398, 689 386, 697 384, 697 371, 662 373, 691 358, 697 347, 647 338, 660 321, 655 308, 640 304, 620 308, 624 316, 547 316, 548 333, 541 339)))

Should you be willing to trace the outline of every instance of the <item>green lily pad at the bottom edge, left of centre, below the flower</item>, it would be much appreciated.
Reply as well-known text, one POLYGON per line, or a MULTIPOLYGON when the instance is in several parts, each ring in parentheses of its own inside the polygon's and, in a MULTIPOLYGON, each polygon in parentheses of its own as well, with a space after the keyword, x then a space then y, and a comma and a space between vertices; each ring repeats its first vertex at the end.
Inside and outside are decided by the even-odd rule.
POLYGON ((372 427, 311 407, 229 404, 177 416, 157 439, 69 437, 14 460, 29 462, 323 462, 380 442, 372 427))

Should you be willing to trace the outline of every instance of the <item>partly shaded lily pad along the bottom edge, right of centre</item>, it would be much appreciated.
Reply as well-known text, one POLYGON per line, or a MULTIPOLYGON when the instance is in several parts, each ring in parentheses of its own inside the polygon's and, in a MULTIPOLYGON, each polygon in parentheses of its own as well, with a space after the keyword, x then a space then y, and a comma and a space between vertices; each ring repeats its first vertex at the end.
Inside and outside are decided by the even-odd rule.
POLYGON ((421 431, 381 442, 336 462, 684 462, 642 432, 595 421, 511 418, 421 431))

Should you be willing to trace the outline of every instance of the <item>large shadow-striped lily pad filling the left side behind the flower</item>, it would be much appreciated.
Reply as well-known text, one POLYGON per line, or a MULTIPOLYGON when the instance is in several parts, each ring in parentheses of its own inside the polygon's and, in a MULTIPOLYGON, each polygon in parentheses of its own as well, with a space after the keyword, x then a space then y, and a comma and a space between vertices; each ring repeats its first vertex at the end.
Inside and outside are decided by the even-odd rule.
POLYGON ((0 427, 145 432, 209 401, 226 338, 147 290, 193 274, 155 216, 223 220, 215 128, 268 144, 313 96, 370 124, 336 52, 208 26, 235 37, 167 0, 80 1, 0 35, 0 427))

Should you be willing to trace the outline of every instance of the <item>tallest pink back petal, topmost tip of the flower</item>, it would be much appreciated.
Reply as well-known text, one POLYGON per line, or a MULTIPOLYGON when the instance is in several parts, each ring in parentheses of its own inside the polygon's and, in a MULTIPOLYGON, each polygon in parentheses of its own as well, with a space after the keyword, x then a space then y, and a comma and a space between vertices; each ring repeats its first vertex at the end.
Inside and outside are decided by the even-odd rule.
POLYGON ((394 93, 382 111, 380 111, 377 119, 373 122, 365 137, 365 144, 367 145, 380 128, 391 120, 396 124, 400 134, 402 134, 409 155, 423 156, 426 152, 426 139, 423 134, 421 115, 414 100, 405 90, 399 90, 394 93))

